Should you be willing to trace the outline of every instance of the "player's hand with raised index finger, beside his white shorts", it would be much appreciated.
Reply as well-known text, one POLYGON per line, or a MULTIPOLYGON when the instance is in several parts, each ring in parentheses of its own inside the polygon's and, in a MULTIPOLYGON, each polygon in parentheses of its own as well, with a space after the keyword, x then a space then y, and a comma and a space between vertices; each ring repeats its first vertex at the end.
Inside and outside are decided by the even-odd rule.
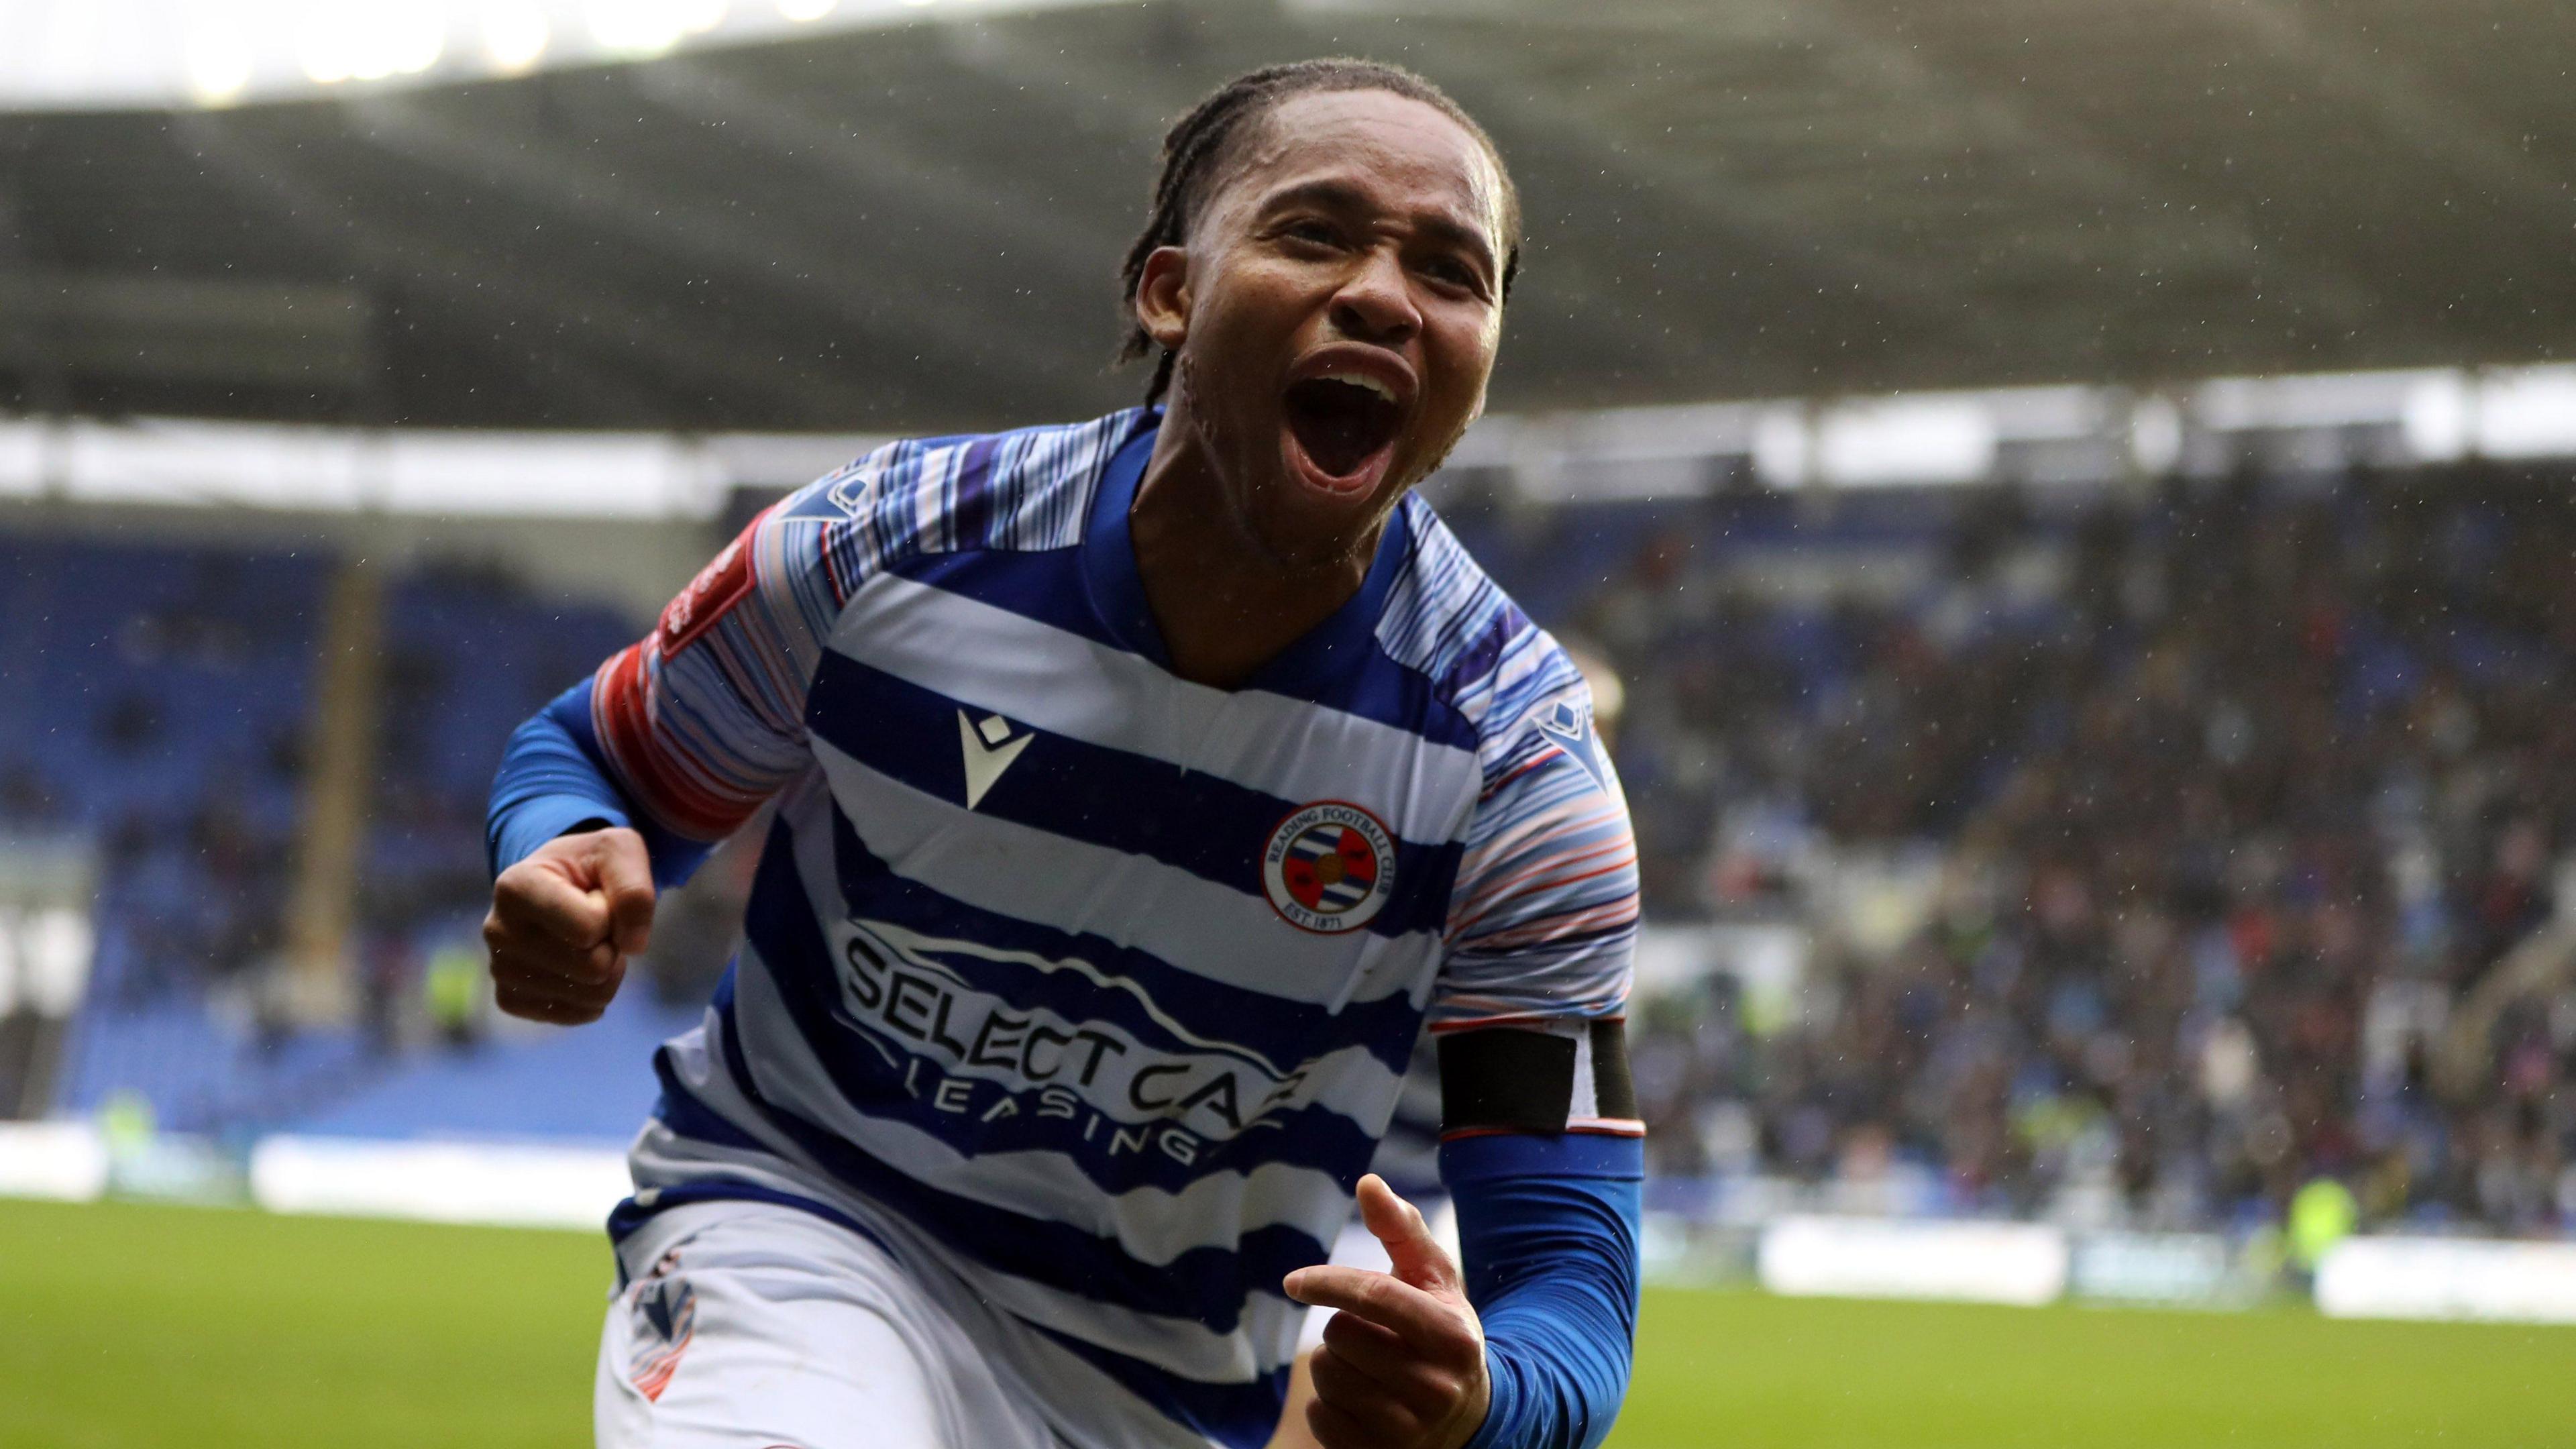
POLYGON ((1484 1428, 1484 1325, 1466 1276, 1414 1204, 1386 1178, 1360 1178, 1360 1222, 1394 1274, 1316 1266, 1288 1274, 1288 1297, 1340 1310, 1314 1351, 1306 1428, 1324 1449, 1458 1449, 1484 1428))

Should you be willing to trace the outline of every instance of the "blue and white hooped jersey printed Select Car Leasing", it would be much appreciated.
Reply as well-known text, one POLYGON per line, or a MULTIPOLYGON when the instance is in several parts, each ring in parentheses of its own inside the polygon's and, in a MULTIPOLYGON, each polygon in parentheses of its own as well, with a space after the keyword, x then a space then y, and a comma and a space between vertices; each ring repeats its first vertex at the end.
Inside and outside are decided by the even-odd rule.
POLYGON ((1582 676, 1422 500, 1242 688, 1172 676, 1128 547, 1157 425, 878 449, 600 668, 654 825, 781 804, 621 1212, 829 1209, 1028 1325, 1074 1444, 1262 1444, 1280 1279, 1425 1024, 1618 1016, 1636 848, 1582 676))

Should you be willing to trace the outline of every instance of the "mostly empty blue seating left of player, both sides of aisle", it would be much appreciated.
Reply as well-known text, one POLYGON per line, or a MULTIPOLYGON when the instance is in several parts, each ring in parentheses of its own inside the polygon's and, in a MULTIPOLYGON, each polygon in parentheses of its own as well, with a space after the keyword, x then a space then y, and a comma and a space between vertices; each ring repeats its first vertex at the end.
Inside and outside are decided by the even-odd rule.
MULTIPOLYGON (((623 642, 608 608, 541 603, 507 578, 425 567, 386 598, 386 709, 363 871, 361 1021, 286 1018, 276 980, 286 869, 301 799, 301 743, 314 694, 332 559, 219 544, 103 544, 0 536, 0 830, 98 843, 95 962, 57 1104, 149 1106, 178 1132, 247 1132, 327 1116, 350 1093, 402 1075, 420 1047, 422 967, 471 941, 482 915, 482 797, 507 732, 538 701, 623 642)), ((667 1013, 647 1031, 667 1029, 667 1013)), ((600 1036, 598 1042, 605 1042, 600 1036)), ((453 1101, 456 1127, 495 1122, 502 1065, 572 1042, 497 1042, 482 1098, 453 1101)), ((608 1049, 605 1044, 595 1049, 608 1049)), ((580 1052, 577 1052, 580 1055, 580 1052)), ((641 1052, 623 1052, 629 1088, 641 1052)), ((587 1055, 585 1055, 587 1062, 587 1055)), ((569 1073, 569 1080, 600 1080, 569 1073)), ((562 1098, 562 1093, 551 1093, 562 1098)), ((641 1101, 526 1129, 623 1134, 641 1101)), ((520 1116, 541 1111, 526 1098, 520 1116)), ((420 1106, 384 1124, 410 1124, 420 1106)), ((355 1122, 371 1122, 363 1111, 355 1122)))

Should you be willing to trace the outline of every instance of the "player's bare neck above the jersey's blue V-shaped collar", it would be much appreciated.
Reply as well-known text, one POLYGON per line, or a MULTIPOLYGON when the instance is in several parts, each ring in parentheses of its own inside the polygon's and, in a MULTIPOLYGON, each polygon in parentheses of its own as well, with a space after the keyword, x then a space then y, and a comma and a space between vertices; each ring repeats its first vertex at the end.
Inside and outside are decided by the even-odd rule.
POLYGON ((1177 389, 1128 505, 1136 575, 1172 673, 1216 688, 1242 686, 1350 603, 1383 529, 1381 513, 1363 536, 1311 554, 1285 554, 1257 536, 1177 389))

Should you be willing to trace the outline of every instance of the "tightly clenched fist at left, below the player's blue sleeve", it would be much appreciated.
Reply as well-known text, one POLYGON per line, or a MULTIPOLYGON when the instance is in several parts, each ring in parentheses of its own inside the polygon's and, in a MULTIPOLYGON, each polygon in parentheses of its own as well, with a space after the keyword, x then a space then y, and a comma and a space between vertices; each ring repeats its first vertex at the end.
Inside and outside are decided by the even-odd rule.
POLYGON ((652 861, 626 828, 556 835, 492 882, 484 946, 510 1016, 598 1021, 652 936, 652 861))

